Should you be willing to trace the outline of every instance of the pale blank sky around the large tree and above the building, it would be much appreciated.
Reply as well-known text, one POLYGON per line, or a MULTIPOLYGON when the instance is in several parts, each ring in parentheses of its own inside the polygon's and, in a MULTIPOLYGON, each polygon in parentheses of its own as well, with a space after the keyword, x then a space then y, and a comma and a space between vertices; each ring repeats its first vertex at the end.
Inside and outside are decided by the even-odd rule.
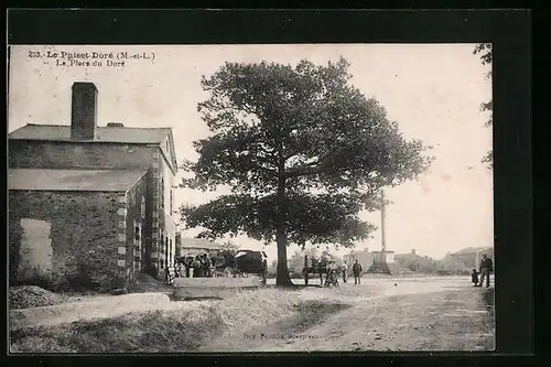
MULTIPOLYGON (((326 65, 343 56, 352 64, 350 84, 379 100, 404 137, 433 147, 430 170, 417 181, 386 190, 392 202, 386 237, 388 250, 415 249, 439 259, 465 247, 493 246, 491 171, 480 162, 491 148, 491 129, 485 127, 488 114, 479 110, 491 98, 491 82, 485 77, 489 67, 473 48, 474 44, 12 46, 8 130, 26 123, 69 125, 73 83, 93 82, 98 87, 98 126, 172 127, 177 159, 195 159, 192 142, 208 134, 197 114, 197 104, 208 98, 199 85, 203 75, 212 75, 225 62, 294 66, 306 58, 326 65), (63 65, 74 53, 112 53, 117 62, 121 52, 147 58, 127 58, 123 66, 108 58, 87 58, 89 66, 63 65), (34 57, 39 53, 41 57, 34 57)), ((219 194, 181 188, 175 203, 202 204, 219 194)), ((363 212, 360 217, 380 226, 379 212, 363 212)), ((184 231, 184 237, 198 231, 184 231)), ((277 257, 276 244, 263 247, 247 237, 234 241, 277 257)), ((380 246, 378 229, 355 249, 380 246)), ((298 250, 291 245, 288 253, 298 250)), ((333 253, 348 251, 339 248, 333 253)))

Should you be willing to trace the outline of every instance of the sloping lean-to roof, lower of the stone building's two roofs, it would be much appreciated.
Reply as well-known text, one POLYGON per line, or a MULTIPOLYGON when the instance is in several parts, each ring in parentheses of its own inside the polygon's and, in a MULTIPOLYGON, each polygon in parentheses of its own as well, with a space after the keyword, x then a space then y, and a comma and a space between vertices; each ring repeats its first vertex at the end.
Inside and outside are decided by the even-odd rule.
POLYGON ((9 190, 126 192, 145 170, 33 170, 10 169, 9 190))

